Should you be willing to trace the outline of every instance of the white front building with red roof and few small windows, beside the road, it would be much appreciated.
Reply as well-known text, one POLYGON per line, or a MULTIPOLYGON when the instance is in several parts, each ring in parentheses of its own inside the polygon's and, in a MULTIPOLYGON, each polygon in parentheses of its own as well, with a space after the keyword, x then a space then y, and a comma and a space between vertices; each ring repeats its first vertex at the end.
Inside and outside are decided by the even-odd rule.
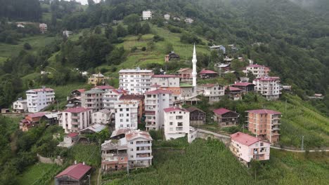
POLYGON ((190 132, 190 112, 179 107, 164 111, 164 137, 166 140, 185 137, 190 132))

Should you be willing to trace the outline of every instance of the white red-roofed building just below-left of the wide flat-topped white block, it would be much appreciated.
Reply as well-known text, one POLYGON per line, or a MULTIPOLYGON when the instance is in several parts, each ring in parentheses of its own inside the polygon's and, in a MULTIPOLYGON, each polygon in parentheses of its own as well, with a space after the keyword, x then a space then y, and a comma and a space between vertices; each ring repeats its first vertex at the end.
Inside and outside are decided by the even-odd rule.
POLYGON ((126 90, 112 89, 103 94, 103 107, 109 109, 112 113, 115 112, 115 104, 122 95, 127 94, 126 90))

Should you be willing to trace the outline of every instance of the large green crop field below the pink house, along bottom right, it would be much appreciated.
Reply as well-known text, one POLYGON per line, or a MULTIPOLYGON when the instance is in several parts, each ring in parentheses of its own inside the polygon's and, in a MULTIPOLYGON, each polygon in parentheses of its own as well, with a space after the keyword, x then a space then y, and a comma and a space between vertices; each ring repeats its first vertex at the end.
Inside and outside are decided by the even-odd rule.
MULTIPOLYGON (((294 154, 271 149, 260 167, 240 164, 217 140, 197 139, 186 149, 153 149, 153 166, 132 170, 129 177, 108 184, 327 184, 329 157, 325 153, 294 154)), ((328 153, 327 153, 328 154, 328 153)), ((103 178, 104 179, 104 178, 103 178)))

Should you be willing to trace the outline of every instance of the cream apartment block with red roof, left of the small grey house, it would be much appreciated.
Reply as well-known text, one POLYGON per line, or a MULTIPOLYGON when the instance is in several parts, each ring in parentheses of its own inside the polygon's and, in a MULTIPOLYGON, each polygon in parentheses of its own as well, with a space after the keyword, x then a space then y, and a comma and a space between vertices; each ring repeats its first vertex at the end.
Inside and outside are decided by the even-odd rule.
POLYGON ((91 109, 82 107, 66 109, 58 115, 58 120, 65 133, 77 133, 91 124, 91 109))

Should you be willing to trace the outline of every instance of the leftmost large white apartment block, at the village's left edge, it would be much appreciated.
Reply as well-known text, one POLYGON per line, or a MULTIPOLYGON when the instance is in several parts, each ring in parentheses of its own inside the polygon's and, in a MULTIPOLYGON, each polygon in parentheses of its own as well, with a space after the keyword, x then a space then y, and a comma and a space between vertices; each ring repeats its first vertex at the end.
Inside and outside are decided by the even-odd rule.
POLYGON ((29 112, 38 112, 55 101, 55 90, 51 88, 30 89, 26 91, 27 109, 29 112))

